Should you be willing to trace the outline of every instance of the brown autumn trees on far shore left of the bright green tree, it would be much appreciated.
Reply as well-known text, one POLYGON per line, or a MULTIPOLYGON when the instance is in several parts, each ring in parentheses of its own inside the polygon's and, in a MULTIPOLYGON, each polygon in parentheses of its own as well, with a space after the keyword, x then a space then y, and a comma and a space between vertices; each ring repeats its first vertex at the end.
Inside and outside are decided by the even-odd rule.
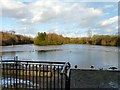
POLYGON ((0 32, 0 46, 32 43, 33 38, 23 35, 11 34, 8 32, 0 32))

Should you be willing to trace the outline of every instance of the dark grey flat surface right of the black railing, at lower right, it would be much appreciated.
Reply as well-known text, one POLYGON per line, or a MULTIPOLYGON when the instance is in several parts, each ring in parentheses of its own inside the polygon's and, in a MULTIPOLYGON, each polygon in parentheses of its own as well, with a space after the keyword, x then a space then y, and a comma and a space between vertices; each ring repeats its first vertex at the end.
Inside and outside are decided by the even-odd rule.
POLYGON ((118 88, 118 81, 120 71, 71 70, 71 88, 118 88))

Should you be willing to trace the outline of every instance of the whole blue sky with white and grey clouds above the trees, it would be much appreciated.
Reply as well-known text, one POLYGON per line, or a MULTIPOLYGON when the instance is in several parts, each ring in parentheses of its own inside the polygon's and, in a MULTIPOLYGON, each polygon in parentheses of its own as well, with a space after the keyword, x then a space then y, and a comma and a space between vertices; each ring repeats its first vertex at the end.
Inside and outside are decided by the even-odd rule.
MULTIPOLYGON (((118 32, 117 2, 83 0, 0 0, 0 30, 36 36, 55 32, 67 37, 118 32)), ((101 0, 102 1, 102 0, 101 0)))

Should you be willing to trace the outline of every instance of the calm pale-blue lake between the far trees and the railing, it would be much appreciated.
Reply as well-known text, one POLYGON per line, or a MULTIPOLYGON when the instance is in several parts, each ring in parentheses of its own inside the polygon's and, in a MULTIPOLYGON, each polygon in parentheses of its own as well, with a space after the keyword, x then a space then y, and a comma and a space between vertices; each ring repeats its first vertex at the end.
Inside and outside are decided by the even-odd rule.
MULTIPOLYGON (((83 44, 65 44, 57 46, 14 45, 2 46, 1 55, 4 59, 18 56, 22 60, 65 61, 80 69, 108 69, 118 67, 118 47, 96 46, 83 44)), ((120 67, 118 67, 120 68, 120 67)))

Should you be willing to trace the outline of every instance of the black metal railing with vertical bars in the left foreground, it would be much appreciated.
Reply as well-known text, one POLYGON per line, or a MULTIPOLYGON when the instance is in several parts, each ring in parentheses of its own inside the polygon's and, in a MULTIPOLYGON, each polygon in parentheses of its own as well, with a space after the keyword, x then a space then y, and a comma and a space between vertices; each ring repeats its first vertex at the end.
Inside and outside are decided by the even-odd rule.
POLYGON ((68 62, 2 60, 3 89, 70 89, 68 62))

